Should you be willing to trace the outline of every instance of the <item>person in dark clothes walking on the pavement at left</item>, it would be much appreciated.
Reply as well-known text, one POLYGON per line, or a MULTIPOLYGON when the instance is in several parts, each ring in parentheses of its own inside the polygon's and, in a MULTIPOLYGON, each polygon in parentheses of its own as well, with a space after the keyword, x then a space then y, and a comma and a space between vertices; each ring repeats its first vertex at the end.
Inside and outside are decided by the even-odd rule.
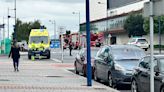
POLYGON ((12 57, 12 59, 13 59, 13 66, 14 66, 14 71, 16 72, 18 72, 19 71, 19 69, 18 69, 18 67, 19 67, 19 58, 20 58, 20 53, 19 53, 19 51, 20 51, 20 48, 19 48, 19 46, 16 44, 16 42, 14 42, 13 44, 12 44, 12 47, 11 47, 11 51, 10 51, 10 54, 9 54, 9 58, 10 58, 10 56, 12 57))

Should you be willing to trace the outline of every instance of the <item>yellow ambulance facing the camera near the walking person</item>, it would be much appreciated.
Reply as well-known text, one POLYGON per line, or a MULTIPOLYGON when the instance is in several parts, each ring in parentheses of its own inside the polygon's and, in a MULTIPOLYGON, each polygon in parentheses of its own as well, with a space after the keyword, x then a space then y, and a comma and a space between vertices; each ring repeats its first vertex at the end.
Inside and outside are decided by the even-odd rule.
POLYGON ((28 59, 31 56, 39 56, 41 51, 39 50, 40 44, 42 43, 43 51, 42 56, 50 59, 50 37, 47 29, 32 29, 29 35, 28 42, 28 59))

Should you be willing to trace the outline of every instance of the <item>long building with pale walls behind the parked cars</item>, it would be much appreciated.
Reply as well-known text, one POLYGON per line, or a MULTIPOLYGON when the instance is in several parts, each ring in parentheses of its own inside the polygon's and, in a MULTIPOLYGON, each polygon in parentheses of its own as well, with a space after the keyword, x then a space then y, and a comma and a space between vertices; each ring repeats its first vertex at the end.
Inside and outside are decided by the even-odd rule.
MULTIPOLYGON (((98 0, 91 0, 90 2, 91 32, 104 33, 104 44, 126 44, 129 40, 128 33, 123 27, 126 18, 131 13, 142 14, 144 3, 149 0, 102 0, 102 3, 99 4, 104 4, 104 7, 99 7, 96 1, 99 2, 98 0), (93 6, 95 6, 94 9, 92 9, 93 6), (96 14, 95 9, 102 10, 105 13, 100 16, 100 13, 96 14)), ((99 10, 98 12, 100 12, 99 10)), ((86 32, 85 24, 80 24, 82 34, 86 32)), ((148 36, 145 37, 149 38, 148 36)))

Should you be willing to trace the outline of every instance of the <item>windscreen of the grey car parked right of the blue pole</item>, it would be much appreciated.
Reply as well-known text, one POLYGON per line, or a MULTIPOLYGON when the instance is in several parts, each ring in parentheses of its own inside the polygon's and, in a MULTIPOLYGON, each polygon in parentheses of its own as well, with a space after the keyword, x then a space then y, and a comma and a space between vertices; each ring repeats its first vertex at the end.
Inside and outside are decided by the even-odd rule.
POLYGON ((141 59, 145 56, 143 50, 134 48, 114 48, 112 53, 115 60, 141 59))

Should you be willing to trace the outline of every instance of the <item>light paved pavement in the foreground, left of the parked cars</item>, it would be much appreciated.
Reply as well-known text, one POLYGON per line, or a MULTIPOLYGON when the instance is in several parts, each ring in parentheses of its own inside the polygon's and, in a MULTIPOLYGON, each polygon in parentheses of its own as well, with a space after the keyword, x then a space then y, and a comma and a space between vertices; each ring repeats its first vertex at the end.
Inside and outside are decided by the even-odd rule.
POLYGON ((12 59, 0 56, 0 92, 118 92, 95 81, 88 87, 86 78, 74 74, 72 69, 72 63, 31 61, 23 54, 20 71, 14 72, 12 59))

